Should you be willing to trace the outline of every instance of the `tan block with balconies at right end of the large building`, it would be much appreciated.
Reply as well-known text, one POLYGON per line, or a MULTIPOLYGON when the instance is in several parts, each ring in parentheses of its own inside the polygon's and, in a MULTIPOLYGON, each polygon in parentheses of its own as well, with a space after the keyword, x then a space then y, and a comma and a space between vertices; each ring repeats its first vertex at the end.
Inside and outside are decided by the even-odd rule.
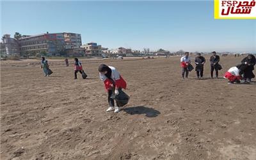
POLYGON ((81 35, 77 33, 63 33, 66 49, 79 48, 82 45, 81 35))

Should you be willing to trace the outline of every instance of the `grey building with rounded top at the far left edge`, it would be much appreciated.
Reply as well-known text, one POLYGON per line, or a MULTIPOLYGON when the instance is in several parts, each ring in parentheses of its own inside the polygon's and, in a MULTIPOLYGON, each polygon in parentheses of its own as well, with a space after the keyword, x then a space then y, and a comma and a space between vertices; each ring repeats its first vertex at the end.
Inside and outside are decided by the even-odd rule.
POLYGON ((19 43, 15 38, 11 38, 10 35, 4 35, 2 41, 0 43, 1 56, 19 56, 19 43))

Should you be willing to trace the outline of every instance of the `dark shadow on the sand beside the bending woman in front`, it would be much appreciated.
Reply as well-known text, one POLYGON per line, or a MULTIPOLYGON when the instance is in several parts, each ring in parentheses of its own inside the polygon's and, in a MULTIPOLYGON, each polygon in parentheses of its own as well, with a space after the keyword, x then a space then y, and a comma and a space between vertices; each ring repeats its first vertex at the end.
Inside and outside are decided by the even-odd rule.
POLYGON ((156 117, 160 115, 161 113, 153 108, 147 108, 145 106, 136 106, 131 108, 124 108, 123 109, 126 113, 130 115, 141 115, 146 114, 147 117, 156 117))

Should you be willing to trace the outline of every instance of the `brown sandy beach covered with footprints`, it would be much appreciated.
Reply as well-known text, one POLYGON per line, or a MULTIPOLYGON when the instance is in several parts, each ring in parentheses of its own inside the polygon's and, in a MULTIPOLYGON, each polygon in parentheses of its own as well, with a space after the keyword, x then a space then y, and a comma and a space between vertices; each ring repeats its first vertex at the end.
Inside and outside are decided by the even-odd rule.
MULTIPOLYGON (((1 61, 1 159, 255 160, 255 79, 209 79, 205 58, 201 80, 181 79, 179 56, 82 60, 77 80, 63 60, 49 61, 50 77, 40 61, 1 61), (127 81, 118 114, 106 113, 100 63, 127 81)), ((221 57, 220 77, 241 59, 221 57)))

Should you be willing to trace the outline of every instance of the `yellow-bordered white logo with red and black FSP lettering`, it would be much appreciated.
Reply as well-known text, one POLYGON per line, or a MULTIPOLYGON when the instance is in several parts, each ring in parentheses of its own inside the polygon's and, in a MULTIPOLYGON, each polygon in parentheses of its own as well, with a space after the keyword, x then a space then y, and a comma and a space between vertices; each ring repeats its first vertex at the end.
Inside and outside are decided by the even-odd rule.
POLYGON ((214 0, 214 19, 256 19, 255 0, 214 0))

